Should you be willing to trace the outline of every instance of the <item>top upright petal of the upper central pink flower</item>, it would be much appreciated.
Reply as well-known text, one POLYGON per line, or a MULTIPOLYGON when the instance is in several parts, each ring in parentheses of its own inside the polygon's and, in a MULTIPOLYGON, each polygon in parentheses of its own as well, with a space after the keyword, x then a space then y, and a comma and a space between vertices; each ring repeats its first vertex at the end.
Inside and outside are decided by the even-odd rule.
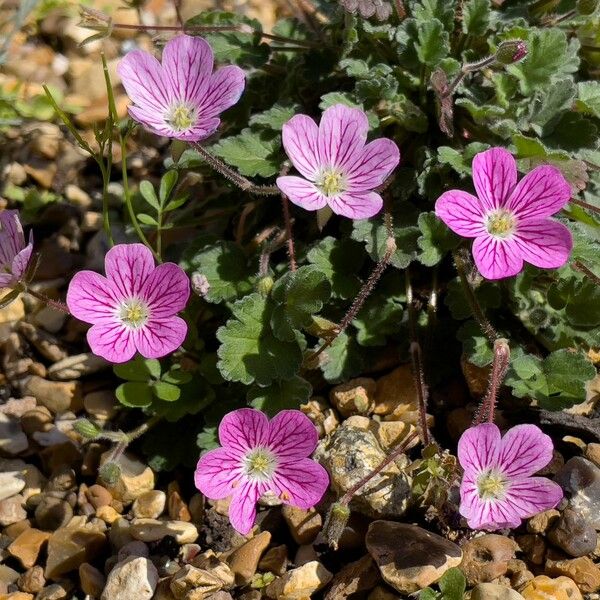
POLYGON ((321 166, 346 171, 367 141, 369 121, 364 111, 343 104, 325 110, 319 124, 319 162, 321 166))

